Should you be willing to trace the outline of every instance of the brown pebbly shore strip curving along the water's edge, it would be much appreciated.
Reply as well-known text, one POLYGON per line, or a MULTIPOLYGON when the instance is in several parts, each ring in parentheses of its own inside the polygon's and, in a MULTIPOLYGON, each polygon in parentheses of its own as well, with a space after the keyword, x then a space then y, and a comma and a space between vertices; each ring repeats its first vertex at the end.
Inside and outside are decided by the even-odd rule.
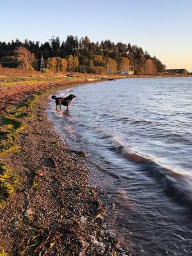
POLYGON ((0 154, 13 186, 0 209, 0 255, 130 255, 106 228, 84 154, 61 141, 45 113, 51 93, 85 83, 48 88, 32 95, 29 108, 24 103, 6 113, 26 126, 0 154))

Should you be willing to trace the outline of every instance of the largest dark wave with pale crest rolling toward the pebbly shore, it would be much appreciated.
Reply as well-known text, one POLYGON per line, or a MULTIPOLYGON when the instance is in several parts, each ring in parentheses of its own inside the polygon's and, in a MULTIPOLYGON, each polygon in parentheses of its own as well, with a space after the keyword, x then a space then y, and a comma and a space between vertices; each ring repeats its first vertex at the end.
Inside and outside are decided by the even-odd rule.
POLYGON ((155 157, 141 154, 131 145, 124 145, 112 134, 106 134, 106 138, 109 140, 109 150, 137 164, 141 172, 148 173, 157 180, 166 195, 171 196, 180 204, 187 205, 192 210, 191 173, 163 166, 155 157))

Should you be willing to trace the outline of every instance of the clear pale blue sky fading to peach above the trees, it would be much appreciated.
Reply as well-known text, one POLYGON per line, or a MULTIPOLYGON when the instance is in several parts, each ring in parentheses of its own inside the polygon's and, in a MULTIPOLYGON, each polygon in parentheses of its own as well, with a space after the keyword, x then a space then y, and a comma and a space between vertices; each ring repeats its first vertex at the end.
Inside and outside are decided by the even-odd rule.
POLYGON ((67 35, 136 44, 192 72, 192 0, 0 0, 0 41, 67 35))

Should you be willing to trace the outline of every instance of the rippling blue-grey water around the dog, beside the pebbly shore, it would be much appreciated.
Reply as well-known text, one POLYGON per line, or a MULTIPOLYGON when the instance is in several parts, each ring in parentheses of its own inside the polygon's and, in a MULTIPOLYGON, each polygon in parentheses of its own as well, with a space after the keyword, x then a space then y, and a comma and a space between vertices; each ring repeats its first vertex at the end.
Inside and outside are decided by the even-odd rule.
POLYGON ((62 90, 49 115, 100 170, 108 223, 133 255, 192 255, 192 78, 122 79, 62 90), (109 204, 111 204, 111 202, 109 204))

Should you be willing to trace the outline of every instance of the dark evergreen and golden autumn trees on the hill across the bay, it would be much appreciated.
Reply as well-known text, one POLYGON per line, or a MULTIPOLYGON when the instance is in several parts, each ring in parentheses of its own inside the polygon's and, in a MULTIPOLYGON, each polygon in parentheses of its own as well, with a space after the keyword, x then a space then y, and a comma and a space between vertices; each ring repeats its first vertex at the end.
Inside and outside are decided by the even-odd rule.
MULTIPOLYGON (((43 54, 45 71, 65 72, 78 71, 102 74, 104 72, 126 72, 129 66, 134 66, 134 74, 155 74, 164 72, 165 65, 143 51, 137 45, 115 44, 111 40, 91 42, 88 36, 80 39, 69 35, 65 41, 58 36, 40 44, 31 40, 19 39, 12 42, 0 42, 0 63, 3 67, 15 68, 20 65, 18 49, 24 47, 31 53, 31 65, 28 69, 39 70, 40 58, 43 54), (32 57, 33 56, 33 57, 32 57)), ((24 49, 22 48, 22 49, 24 49)))

